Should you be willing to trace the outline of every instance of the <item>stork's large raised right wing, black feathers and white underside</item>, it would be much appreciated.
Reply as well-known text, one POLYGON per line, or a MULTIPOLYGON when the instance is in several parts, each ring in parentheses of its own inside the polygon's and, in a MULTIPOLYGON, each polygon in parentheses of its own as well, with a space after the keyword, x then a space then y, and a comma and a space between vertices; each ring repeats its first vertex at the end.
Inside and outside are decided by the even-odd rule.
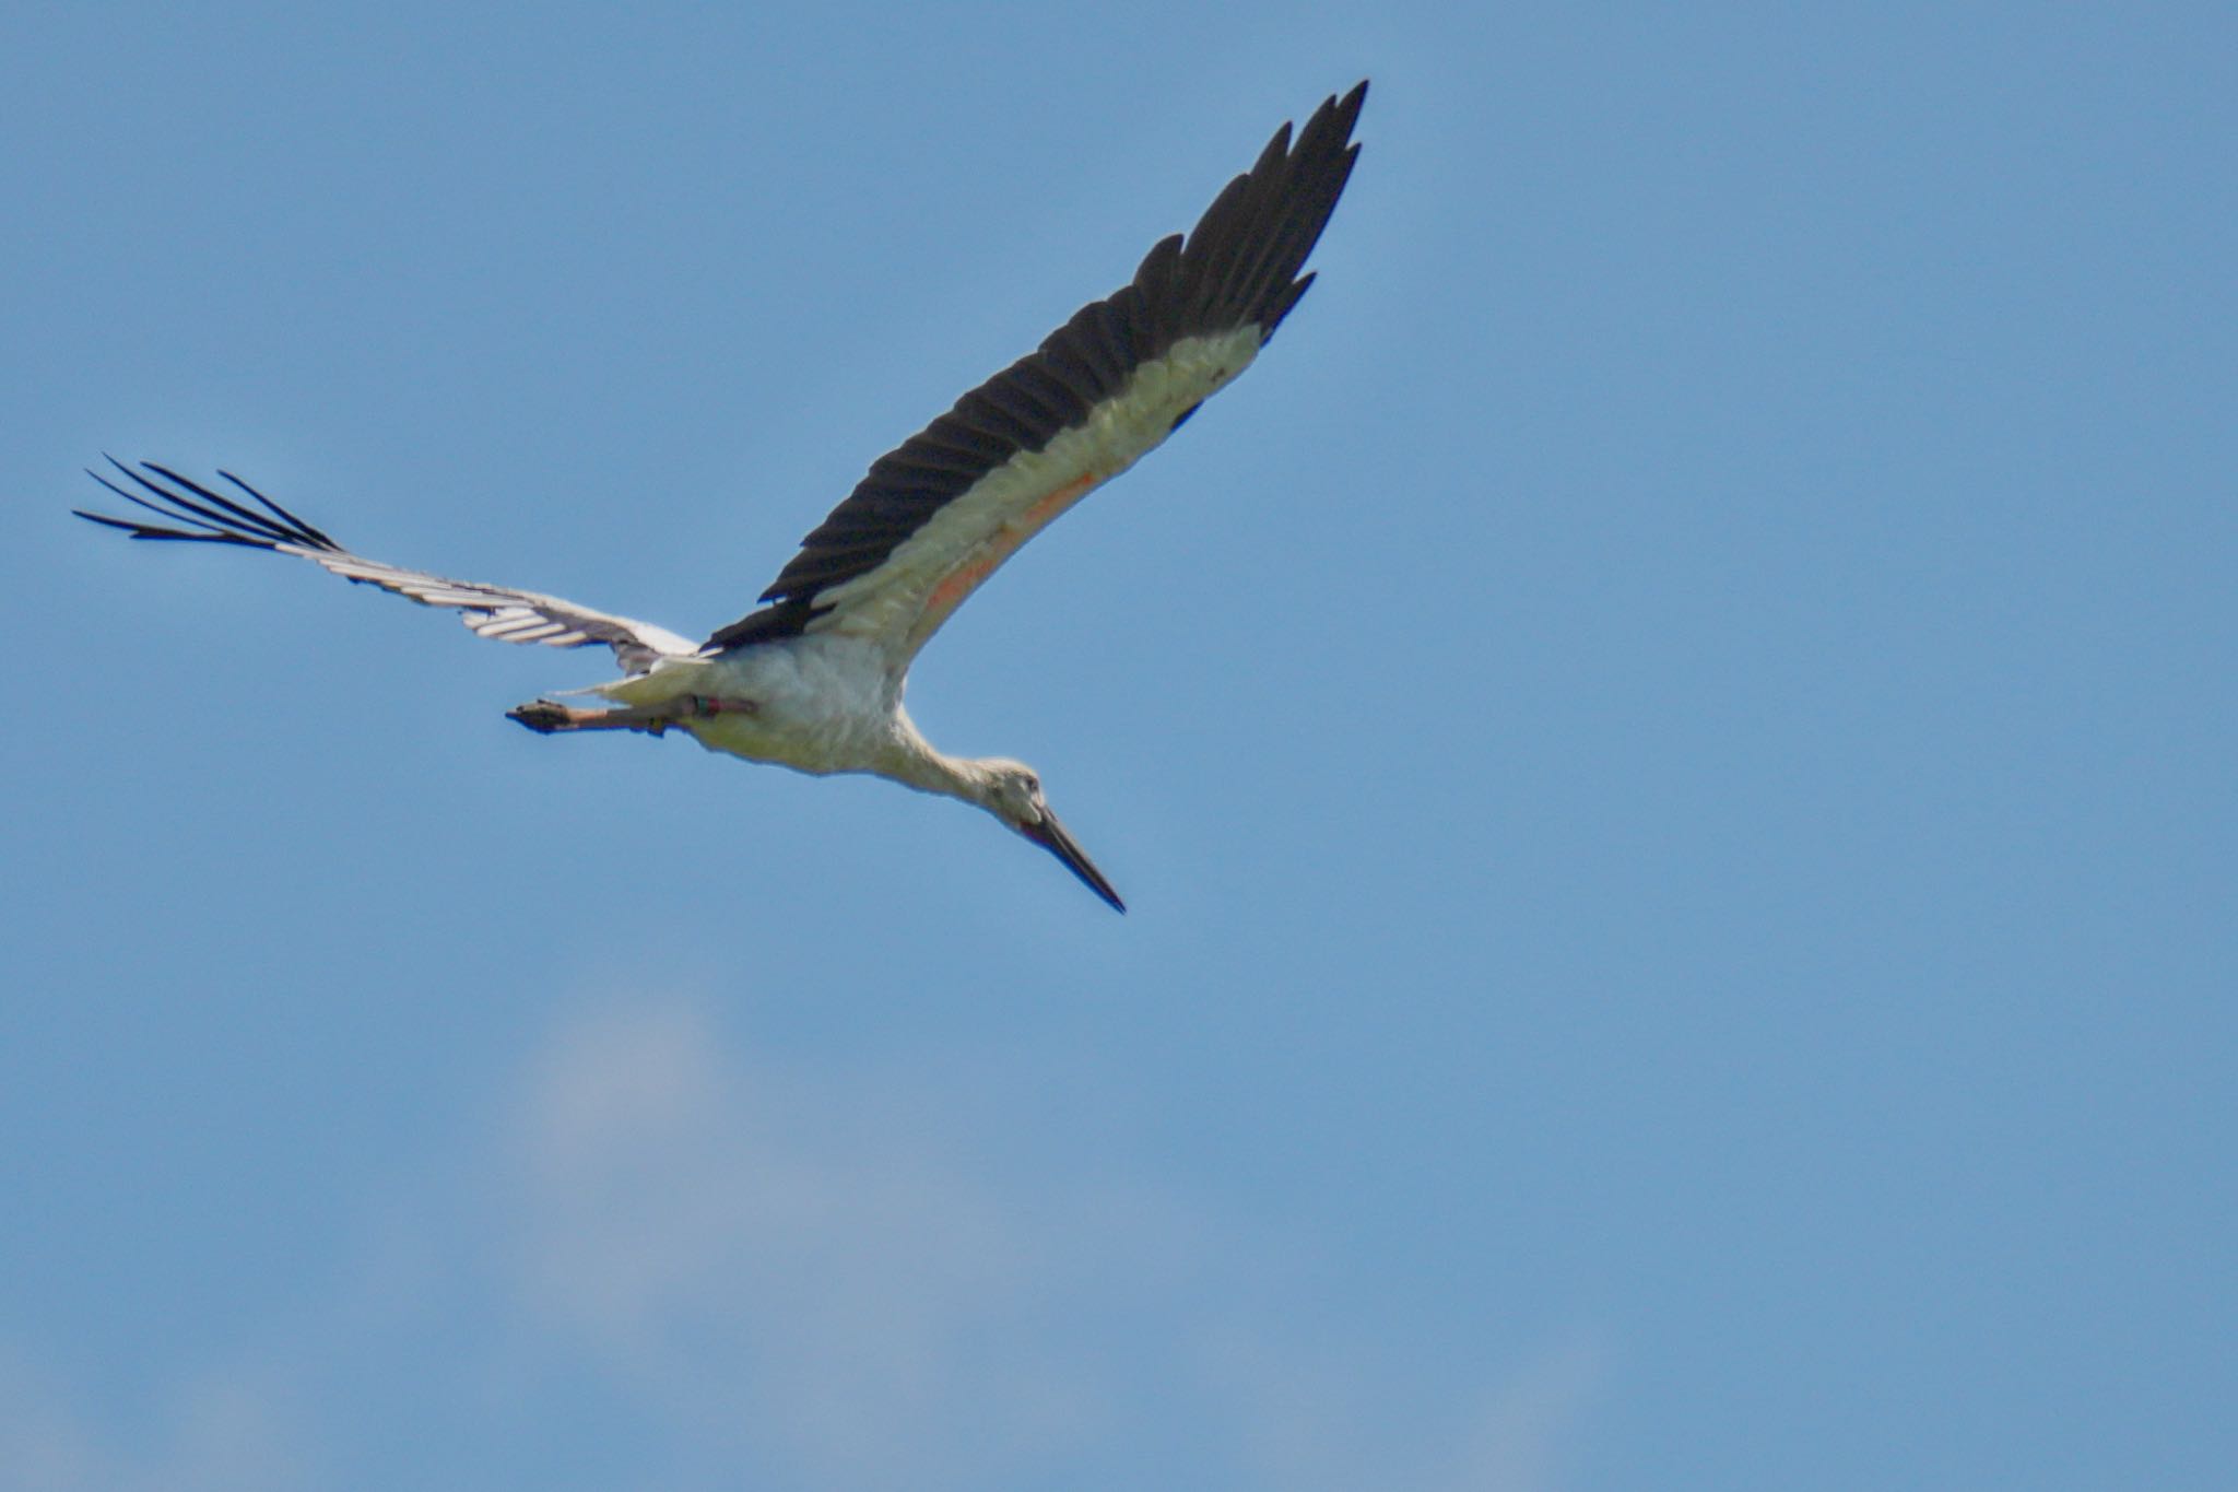
POLYGON ((1188 233, 1135 282, 880 456, 761 593, 707 640, 736 649, 812 631, 873 638, 904 662, 1056 514, 1179 429, 1298 304, 1336 208, 1367 85, 1276 130, 1188 233))

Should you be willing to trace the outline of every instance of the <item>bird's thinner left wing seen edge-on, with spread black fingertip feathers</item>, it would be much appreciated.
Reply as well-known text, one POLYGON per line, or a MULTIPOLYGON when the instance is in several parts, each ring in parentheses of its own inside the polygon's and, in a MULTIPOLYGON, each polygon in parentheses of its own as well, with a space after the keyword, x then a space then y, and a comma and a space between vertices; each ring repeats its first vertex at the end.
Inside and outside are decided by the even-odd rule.
POLYGON ((562 602, 555 595, 513 591, 510 586, 483 586, 466 579, 443 579, 441 575, 427 575, 425 570, 403 570, 394 564, 380 564, 378 559, 363 559, 251 488, 233 472, 219 472, 219 476, 239 488, 244 497, 253 499, 262 512, 222 497, 210 488, 204 488, 199 481, 190 481, 152 461, 143 461, 139 470, 134 470, 110 456, 110 465, 134 483, 139 492, 116 485, 101 472, 87 472, 87 476, 128 503, 137 503, 139 508, 154 512, 166 519, 166 523, 150 523, 145 519, 112 519, 101 512, 85 512, 83 508, 78 510, 78 517, 92 519, 94 523, 107 523, 110 528, 121 528, 134 539, 242 544, 248 548, 266 548, 275 555, 302 555, 304 559, 333 570, 342 579, 380 586, 383 591, 394 591, 396 595, 410 597, 423 606, 452 606, 461 613, 461 620, 474 631, 477 638, 497 638, 499 642, 542 642, 544 646, 591 646, 602 642, 613 649, 615 658, 620 658, 622 667, 631 673, 642 673, 653 667, 656 658, 689 658, 698 651, 696 642, 678 638, 665 626, 631 622, 629 617, 609 617, 604 611, 591 611, 589 606, 577 606, 575 602, 562 602), (186 528, 172 528, 175 523, 184 523, 186 528))

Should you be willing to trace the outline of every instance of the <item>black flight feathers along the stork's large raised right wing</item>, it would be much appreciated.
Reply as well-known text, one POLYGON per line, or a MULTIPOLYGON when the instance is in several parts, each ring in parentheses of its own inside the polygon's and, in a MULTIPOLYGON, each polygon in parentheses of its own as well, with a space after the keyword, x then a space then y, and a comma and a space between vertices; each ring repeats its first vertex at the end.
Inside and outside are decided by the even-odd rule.
MULTIPOLYGON (((707 640, 709 649, 797 635, 821 591, 868 575, 942 506, 1021 452, 1088 421, 1128 376, 1191 336, 1258 327, 1273 336, 1314 282, 1298 277, 1352 174, 1352 125, 1367 85, 1327 98, 1291 148, 1276 130, 1258 163, 1229 181, 1184 239, 1159 239, 1115 295, 1081 306, 1032 353, 880 456, 855 492, 801 541, 765 606, 707 640)), ((1184 414, 1182 418, 1188 418, 1184 414)), ((1182 421, 1175 421, 1179 427, 1182 421)))

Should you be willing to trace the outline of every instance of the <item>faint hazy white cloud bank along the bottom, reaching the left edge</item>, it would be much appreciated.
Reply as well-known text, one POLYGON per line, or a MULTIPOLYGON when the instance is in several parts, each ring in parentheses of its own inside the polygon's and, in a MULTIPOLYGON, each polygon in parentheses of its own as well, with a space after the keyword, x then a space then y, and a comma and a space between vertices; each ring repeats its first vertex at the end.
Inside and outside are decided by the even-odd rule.
POLYGON ((580 1485, 671 1492, 1560 1485, 1589 1338, 1410 1362, 1300 1324, 1345 1282, 1296 1244, 1018 1159, 969 1089, 770 1063, 694 1004, 564 1018, 262 1353, 139 1418, 0 1358, 7 1488, 555 1485, 577 1427, 629 1467, 580 1485))

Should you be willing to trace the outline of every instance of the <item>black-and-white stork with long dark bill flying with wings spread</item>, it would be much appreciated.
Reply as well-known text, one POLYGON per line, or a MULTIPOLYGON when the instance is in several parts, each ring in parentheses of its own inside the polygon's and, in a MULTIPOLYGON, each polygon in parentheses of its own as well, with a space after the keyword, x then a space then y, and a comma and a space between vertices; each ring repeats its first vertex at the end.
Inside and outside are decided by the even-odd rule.
POLYGON ((1119 893, 1050 812, 1018 761, 944 756, 902 709, 911 660, 1021 544, 1182 427, 1251 367, 1314 284, 1300 275, 1358 145, 1367 85, 1327 98, 1296 143, 1285 123, 1197 226, 1162 239, 1117 293, 886 452, 779 570, 756 608, 705 642, 555 595, 443 579, 365 559, 231 472, 233 492, 114 456, 103 488, 154 512, 83 512, 134 539, 239 544, 450 606, 481 638, 611 646, 622 678, 508 716, 533 731, 680 729, 709 752, 799 772, 873 772, 987 810, 1050 850, 1117 910, 1119 893))

